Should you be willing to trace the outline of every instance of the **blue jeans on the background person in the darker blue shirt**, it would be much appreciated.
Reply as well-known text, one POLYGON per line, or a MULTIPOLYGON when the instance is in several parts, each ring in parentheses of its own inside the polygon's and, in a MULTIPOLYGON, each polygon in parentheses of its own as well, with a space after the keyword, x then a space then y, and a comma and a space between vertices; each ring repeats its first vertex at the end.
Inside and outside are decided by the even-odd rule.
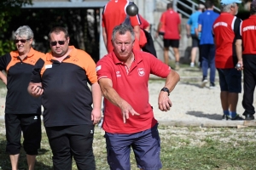
POLYGON ((210 82, 215 82, 215 45, 202 44, 201 45, 201 70, 203 79, 207 78, 208 68, 210 68, 210 82))

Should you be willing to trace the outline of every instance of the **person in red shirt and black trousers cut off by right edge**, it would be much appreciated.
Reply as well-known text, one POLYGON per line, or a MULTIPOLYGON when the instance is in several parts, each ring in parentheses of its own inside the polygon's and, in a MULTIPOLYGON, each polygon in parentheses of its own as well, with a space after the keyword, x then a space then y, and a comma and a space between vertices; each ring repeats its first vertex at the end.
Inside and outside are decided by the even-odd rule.
MULTIPOLYGON (((256 85, 256 1, 253 0, 250 8, 251 16, 241 24, 241 38, 243 45, 243 88, 242 106, 245 109, 243 116, 246 120, 253 120, 253 94, 256 85)), ((242 65, 241 64, 241 65, 242 65)))

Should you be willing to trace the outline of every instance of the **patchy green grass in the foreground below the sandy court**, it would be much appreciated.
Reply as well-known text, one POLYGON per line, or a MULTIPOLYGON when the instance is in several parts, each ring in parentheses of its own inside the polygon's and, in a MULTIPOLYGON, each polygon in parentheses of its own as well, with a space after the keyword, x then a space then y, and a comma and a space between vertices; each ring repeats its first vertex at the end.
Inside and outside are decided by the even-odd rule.
MULTIPOLYGON (((3 127, 3 123, 0 124, 3 127)), ((160 126, 161 161, 164 170, 249 170, 256 169, 255 128, 230 127, 167 127, 160 126)), ((96 169, 109 169, 106 160, 105 139, 102 129, 96 127, 94 153, 96 169)), ((9 156, 4 154, 5 135, 0 134, 0 169, 9 170, 9 156)), ((37 170, 52 169, 51 150, 43 133, 37 157, 37 170)), ((26 169, 24 151, 20 154, 20 167, 26 169)), ((77 169, 73 161, 73 170, 77 169)), ((131 169, 138 169, 131 153, 131 169)))

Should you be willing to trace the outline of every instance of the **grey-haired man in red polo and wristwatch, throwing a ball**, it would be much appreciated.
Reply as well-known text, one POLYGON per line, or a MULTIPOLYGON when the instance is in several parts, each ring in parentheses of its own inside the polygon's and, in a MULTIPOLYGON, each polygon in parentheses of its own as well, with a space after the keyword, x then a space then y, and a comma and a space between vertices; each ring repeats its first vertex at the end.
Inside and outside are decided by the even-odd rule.
POLYGON ((169 111, 168 95, 179 81, 176 71, 154 55, 133 49, 131 26, 113 29, 113 52, 96 64, 98 82, 104 95, 102 128, 110 169, 131 169, 131 147, 141 169, 160 169, 160 137, 152 106, 148 103, 149 74, 166 78, 158 99, 160 111, 169 111))

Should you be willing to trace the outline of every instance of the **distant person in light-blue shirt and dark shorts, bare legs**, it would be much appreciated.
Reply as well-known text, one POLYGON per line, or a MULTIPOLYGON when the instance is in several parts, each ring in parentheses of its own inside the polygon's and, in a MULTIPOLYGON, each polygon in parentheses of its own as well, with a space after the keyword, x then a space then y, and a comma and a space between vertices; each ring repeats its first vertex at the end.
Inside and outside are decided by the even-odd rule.
POLYGON ((192 50, 191 50, 191 63, 190 67, 195 66, 195 56, 199 48, 200 37, 201 35, 198 32, 198 17, 202 13, 205 6, 203 4, 199 4, 197 7, 197 11, 190 15, 189 20, 187 22, 187 37, 192 38, 192 50))

